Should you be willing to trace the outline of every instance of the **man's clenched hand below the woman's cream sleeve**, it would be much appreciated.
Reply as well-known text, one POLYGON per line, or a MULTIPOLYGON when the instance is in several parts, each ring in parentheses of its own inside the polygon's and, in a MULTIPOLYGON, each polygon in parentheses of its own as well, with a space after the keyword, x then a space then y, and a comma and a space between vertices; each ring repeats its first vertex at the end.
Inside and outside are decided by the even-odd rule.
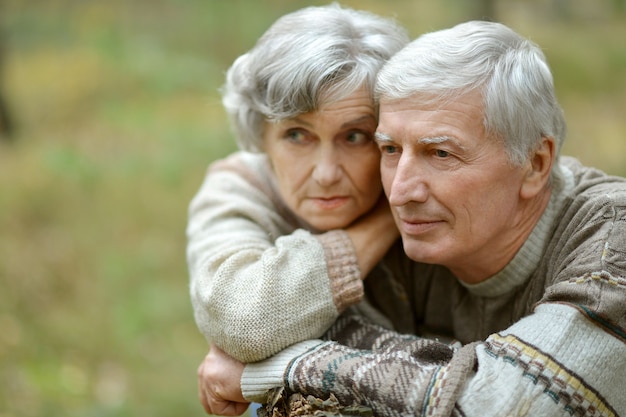
POLYGON ((250 403, 241 393, 244 366, 211 345, 198 367, 198 394, 207 414, 239 416, 248 409, 250 403))

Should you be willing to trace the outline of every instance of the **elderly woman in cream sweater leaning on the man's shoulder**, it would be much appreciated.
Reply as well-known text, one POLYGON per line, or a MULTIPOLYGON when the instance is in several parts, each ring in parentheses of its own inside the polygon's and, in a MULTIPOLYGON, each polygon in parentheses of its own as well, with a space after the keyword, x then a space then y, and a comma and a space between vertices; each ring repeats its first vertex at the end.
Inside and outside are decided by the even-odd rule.
MULTIPOLYGON (((373 141, 378 70, 404 29, 336 4, 288 14, 229 69, 223 103, 242 151, 217 161, 189 208, 200 331, 242 362, 321 336, 362 303, 398 238, 373 141)), ((393 312, 386 312, 393 316, 393 312)))

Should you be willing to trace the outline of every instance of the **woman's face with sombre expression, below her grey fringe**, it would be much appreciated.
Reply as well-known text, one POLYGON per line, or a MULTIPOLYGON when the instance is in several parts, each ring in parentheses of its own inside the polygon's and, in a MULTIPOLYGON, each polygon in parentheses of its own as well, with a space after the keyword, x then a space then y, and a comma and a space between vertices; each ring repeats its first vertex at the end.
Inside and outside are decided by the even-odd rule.
POLYGON ((263 135, 280 193, 301 219, 321 230, 340 229, 380 197, 376 115, 366 90, 277 123, 263 135))

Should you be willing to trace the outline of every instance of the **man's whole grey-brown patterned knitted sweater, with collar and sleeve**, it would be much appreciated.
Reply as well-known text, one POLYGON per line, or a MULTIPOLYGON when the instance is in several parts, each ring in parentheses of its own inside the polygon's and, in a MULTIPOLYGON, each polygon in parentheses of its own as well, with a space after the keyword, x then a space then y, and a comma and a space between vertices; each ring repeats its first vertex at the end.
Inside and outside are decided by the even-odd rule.
POLYGON ((626 416, 626 181, 561 164, 544 215, 495 276, 466 285, 419 263, 397 276, 405 301, 393 310, 404 304, 414 333, 462 347, 347 317, 329 333, 341 343, 247 365, 244 396, 286 385, 377 416, 626 416))

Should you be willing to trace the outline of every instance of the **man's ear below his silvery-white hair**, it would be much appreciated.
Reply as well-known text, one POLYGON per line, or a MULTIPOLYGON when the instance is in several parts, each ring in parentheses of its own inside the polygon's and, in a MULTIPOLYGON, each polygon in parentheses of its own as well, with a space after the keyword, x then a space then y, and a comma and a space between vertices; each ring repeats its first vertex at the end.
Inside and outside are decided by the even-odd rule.
POLYGON ((550 180, 554 154, 554 138, 543 136, 541 144, 532 154, 520 189, 520 197, 529 199, 537 196, 550 180))

